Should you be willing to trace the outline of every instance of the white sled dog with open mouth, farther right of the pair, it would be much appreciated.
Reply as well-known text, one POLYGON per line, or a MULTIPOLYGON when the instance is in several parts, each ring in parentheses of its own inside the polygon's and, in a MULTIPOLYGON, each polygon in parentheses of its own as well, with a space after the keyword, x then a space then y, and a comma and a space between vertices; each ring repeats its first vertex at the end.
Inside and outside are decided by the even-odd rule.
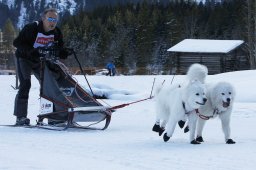
POLYGON ((235 97, 234 87, 228 82, 219 82, 214 85, 208 85, 206 96, 208 101, 204 106, 199 108, 199 119, 197 124, 197 138, 203 142, 202 132, 205 122, 210 118, 219 117, 221 120, 222 130, 225 135, 227 144, 234 144, 230 138, 230 116, 233 108, 235 97))

